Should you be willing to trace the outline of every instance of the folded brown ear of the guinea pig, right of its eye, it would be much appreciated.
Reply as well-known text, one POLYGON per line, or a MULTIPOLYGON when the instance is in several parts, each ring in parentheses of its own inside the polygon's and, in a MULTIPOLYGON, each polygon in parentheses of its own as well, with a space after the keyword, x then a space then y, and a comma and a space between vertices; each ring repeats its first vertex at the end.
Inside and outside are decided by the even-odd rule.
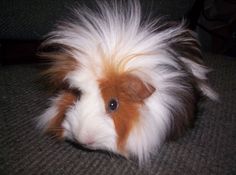
POLYGON ((121 89, 129 100, 134 102, 143 102, 156 90, 152 85, 133 75, 126 75, 122 78, 121 89))

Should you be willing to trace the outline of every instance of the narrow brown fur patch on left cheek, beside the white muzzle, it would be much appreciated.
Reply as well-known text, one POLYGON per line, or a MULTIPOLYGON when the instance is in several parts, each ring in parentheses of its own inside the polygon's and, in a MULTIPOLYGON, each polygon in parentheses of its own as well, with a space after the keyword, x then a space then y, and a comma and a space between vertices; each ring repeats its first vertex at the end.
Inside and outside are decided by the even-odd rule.
POLYGON ((58 138, 63 138, 63 131, 61 124, 65 118, 65 113, 68 108, 73 105, 73 103, 78 98, 78 92, 75 90, 67 90, 62 92, 61 99, 57 102, 57 115, 50 121, 47 128, 48 133, 53 134, 58 138))

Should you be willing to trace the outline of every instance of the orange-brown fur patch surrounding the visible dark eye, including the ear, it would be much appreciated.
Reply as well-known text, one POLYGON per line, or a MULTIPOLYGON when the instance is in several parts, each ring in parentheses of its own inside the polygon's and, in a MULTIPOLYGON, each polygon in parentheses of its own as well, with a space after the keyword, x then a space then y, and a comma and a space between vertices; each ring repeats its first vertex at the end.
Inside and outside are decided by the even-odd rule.
POLYGON ((139 108, 143 100, 149 97, 155 89, 131 74, 111 73, 107 78, 100 80, 99 85, 106 111, 111 115, 115 124, 118 149, 124 152, 130 130, 139 120, 139 108), (119 103, 117 110, 112 112, 108 105, 111 99, 116 99, 119 103))

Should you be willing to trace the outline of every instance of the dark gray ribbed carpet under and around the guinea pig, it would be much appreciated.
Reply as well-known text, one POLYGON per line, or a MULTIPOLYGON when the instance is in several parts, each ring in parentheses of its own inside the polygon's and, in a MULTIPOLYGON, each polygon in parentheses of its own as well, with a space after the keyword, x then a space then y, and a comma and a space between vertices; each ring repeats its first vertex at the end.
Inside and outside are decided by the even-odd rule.
POLYGON ((195 127, 166 143, 143 168, 135 161, 57 142, 35 129, 49 95, 36 65, 0 67, 0 174, 236 174, 236 59, 207 54, 221 103, 205 101, 195 127))

